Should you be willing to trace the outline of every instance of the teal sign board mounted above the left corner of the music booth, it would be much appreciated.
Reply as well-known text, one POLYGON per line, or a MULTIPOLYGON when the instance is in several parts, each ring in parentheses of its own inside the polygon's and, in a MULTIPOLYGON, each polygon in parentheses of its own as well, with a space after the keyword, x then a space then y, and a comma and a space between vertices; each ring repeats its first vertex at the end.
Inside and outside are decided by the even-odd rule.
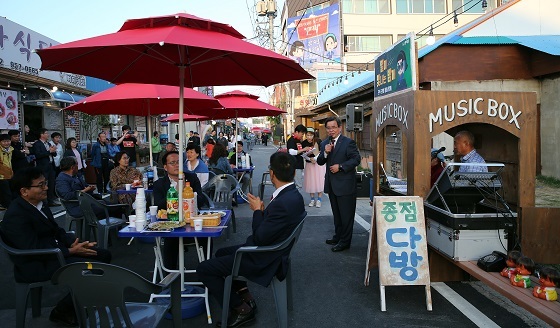
POLYGON ((374 98, 397 91, 416 89, 416 50, 414 33, 375 58, 374 98))

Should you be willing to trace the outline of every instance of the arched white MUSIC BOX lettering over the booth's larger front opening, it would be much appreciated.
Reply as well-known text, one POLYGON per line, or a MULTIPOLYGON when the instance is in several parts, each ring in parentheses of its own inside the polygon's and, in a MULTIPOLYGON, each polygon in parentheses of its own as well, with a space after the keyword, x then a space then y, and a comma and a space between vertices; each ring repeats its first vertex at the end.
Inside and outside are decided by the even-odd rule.
POLYGON ((430 113, 428 124, 430 132, 434 131, 435 125, 443 125, 444 122, 453 122, 456 119, 468 116, 480 116, 486 119, 498 119, 506 124, 511 124, 516 129, 521 130, 519 117, 521 109, 505 101, 498 101, 492 98, 468 98, 446 104, 439 107, 435 113, 430 113))

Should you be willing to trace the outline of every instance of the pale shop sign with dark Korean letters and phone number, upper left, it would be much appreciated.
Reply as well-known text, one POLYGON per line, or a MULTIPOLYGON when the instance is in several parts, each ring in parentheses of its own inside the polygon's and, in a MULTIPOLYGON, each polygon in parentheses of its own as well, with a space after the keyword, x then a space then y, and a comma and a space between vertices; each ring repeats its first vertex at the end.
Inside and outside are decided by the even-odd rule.
POLYGON ((0 67, 86 88, 86 77, 83 75, 40 70, 41 58, 34 50, 57 44, 59 42, 0 17, 0 67))

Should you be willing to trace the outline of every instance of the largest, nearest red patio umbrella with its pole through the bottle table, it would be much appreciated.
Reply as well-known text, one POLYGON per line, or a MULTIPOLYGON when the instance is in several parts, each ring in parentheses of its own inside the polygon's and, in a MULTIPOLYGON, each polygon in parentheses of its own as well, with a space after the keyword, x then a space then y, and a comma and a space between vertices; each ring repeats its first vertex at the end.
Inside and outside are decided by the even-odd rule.
MULTIPOLYGON (((37 53, 42 70, 94 76, 117 84, 178 85, 181 117, 185 85, 269 86, 313 78, 293 60, 242 38, 227 24, 175 14, 129 20, 116 33, 56 45, 37 53)), ((179 134, 184 135, 183 132, 183 125, 179 124, 179 134)), ((183 148, 183 138, 179 139, 179 147, 183 148)), ((179 160, 183 161, 182 151, 179 160)), ((180 189, 182 173, 180 167, 180 189)), ((179 266, 183 265, 182 260, 179 257, 179 266)))

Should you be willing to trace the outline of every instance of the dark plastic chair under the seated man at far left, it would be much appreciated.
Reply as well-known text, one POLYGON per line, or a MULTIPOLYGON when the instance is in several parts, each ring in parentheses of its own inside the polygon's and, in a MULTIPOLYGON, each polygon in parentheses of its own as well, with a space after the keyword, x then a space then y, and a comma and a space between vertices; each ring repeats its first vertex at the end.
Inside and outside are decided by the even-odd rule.
MULTIPOLYGON (((67 232, 67 234, 74 235, 74 232, 67 232)), ((59 248, 44 248, 44 249, 17 249, 8 246, 4 242, 4 236, 0 233, 0 246, 6 250, 13 263, 13 258, 21 258, 25 256, 41 256, 41 257, 56 257, 60 266, 66 264, 64 255, 59 248)), ((15 267, 14 267, 15 271, 15 267)), ((38 282, 17 282, 16 281, 16 328, 25 327, 25 316, 27 312, 27 299, 31 295, 31 313, 34 318, 41 316, 41 298, 43 293, 43 286, 51 285, 50 280, 38 282)))

